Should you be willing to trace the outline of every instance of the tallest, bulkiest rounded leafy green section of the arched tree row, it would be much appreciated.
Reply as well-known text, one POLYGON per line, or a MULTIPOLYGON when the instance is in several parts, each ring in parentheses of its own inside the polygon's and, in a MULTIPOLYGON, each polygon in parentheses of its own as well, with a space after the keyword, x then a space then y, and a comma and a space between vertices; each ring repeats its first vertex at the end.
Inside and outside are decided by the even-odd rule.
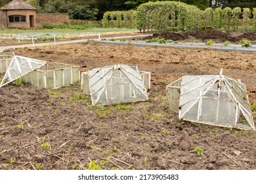
POLYGON ((173 25, 184 31, 200 28, 198 20, 202 11, 195 6, 175 1, 144 3, 137 9, 137 28, 164 30, 173 25))

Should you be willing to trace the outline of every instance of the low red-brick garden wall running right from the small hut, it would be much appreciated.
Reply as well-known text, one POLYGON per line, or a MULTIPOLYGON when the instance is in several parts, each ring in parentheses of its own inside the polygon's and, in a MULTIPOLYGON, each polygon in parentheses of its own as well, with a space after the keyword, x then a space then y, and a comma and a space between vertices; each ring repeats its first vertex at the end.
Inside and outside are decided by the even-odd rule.
POLYGON ((37 27, 47 23, 65 23, 68 21, 68 15, 66 14, 37 13, 36 17, 37 27))

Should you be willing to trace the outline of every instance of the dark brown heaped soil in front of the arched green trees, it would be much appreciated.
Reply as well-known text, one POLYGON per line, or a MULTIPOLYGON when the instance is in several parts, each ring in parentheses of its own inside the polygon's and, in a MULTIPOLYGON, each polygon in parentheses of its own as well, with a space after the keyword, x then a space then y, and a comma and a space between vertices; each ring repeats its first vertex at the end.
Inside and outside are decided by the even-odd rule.
POLYGON ((173 41, 200 41, 200 42, 207 42, 212 40, 217 43, 221 43, 224 41, 230 42, 239 42, 243 39, 247 39, 256 43, 256 34, 255 33, 224 33, 221 31, 216 31, 213 29, 200 31, 200 32, 161 32, 161 33, 154 33, 152 36, 145 37, 145 39, 152 39, 154 37, 164 38, 164 39, 171 39, 173 41))

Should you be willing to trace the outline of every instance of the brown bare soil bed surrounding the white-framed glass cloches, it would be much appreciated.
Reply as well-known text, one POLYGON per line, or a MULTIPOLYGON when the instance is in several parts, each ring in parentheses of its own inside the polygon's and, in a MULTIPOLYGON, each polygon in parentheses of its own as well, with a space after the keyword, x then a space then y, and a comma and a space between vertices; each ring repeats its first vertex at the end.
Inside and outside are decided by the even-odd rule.
POLYGON ((181 121, 167 108, 165 92, 181 76, 217 75, 223 68, 224 75, 247 85, 249 101, 256 103, 255 53, 96 42, 14 53, 72 63, 81 71, 137 64, 152 72, 152 89, 149 101, 121 110, 91 107, 88 96, 79 97, 79 84, 53 91, 15 84, 0 88, 0 169, 87 169, 90 159, 101 169, 256 168, 255 131, 181 121), (203 156, 193 152, 196 147, 203 156))

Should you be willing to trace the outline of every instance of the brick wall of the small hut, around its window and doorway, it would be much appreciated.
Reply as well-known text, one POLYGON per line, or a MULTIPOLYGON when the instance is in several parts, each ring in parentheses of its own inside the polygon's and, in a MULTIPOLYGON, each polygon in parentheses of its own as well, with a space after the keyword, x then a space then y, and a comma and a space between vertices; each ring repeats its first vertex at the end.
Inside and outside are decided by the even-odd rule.
POLYGON ((37 27, 35 24, 35 10, 7 10, 7 16, 11 15, 22 15, 26 16, 26 22, 12 22, 10 23, 8 20, 7 27, 9 28, 30 28, 30 27, 37 27), (33 16, 32 18, 32 26, 30 26, 30 16, 33 16))

